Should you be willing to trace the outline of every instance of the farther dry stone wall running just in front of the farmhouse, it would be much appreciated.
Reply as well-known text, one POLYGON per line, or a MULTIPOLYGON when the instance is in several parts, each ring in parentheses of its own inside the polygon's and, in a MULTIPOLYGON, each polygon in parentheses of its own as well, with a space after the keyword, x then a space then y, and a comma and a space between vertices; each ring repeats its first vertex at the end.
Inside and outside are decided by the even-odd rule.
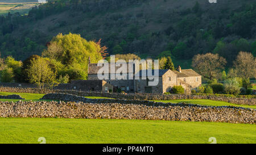
POLYGON ((229 102, 234 104, 245 104, 245 105, 256 105, 256 98, 232 98, 232 97, 221 97, 214 95, 183 95, 183 94, 117 94, 117 93, 100 93, 100 92, 85 92, 75 90, 43 90, 36 88, 14 88, 14 87, 0 87, 0 91, 13 92, 13 93, 38 93, 38 94, 49 94, 49 93, 67 93, 79 96, 91 96, 91 97, 106 97, 106 98, 117 98, 117 99, 136 99, 136 100, 174 100, 174 99, 210 99, 223 102, 229 102))

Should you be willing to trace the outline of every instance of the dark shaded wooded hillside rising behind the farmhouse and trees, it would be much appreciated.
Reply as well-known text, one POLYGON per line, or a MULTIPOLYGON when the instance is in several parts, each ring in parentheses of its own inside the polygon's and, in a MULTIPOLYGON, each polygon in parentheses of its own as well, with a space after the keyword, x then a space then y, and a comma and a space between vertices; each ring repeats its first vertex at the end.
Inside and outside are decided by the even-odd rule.
POLYGON ((228 65, 239 51, 256 51, 254 0, 102 0, 49 1, 0 18, 2 56, 24 60, 46 48, 57 33, 80 33, 102 39, 109 53, 136 53, 146 58, 172 55, 189 67, 198 53, 219 53, 228 65))

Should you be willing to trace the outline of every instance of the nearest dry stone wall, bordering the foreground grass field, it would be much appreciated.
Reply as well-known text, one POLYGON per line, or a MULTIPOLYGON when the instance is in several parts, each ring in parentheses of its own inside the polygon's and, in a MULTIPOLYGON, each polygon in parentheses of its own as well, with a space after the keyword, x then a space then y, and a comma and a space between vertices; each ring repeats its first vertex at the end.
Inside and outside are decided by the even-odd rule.
POLYGON ((0 117, 141 119, 256 124, 256 110, 249 108, 166 104, 140 100, 121 102, 121 100, 109 99, 94 99, 94 103, 0 102, 0 117), (114 101, 115 103, 112 103, 114 101))

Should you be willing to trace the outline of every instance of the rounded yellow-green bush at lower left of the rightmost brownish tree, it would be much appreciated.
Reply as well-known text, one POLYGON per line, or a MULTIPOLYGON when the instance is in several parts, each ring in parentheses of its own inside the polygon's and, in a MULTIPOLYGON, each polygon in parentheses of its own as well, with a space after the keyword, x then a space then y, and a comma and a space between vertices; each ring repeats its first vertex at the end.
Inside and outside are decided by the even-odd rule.
POLYGON ((238 95, 240 94, 240 88, 239 82, 235 78, 224 81, 224 91, 227 94, 238 95))

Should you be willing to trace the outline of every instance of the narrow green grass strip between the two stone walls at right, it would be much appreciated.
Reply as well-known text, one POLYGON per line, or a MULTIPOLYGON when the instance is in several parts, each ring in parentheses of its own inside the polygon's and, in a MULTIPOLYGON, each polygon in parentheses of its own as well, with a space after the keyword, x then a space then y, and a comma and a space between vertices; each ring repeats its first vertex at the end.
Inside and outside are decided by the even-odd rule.
POLYGON ((164 102, 164 103, 187 103, 187 104, 200 104, 204 106, 234 106, 234 107, 243 107, 243 108, 255 108, 256 106, 249 105, 238 105, 228 102, 221 102, 216 100, 209 99, 177 99, 177 100, 154 100, 155 102, 164 102))

